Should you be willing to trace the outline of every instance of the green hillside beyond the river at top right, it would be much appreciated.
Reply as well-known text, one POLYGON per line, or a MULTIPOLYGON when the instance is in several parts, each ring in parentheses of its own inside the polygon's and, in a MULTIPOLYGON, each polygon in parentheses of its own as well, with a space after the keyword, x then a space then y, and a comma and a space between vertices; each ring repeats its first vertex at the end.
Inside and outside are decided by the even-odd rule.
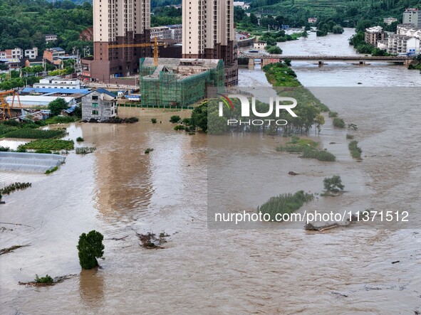
POLYGON ((292 24, 303 25, 308 17, 334 18, 343 26, 359 20, 380 23, 385 17, 402 21, 405 8, 421 9, 421 0, 251 0, 251 12, 285 16, 292 24))

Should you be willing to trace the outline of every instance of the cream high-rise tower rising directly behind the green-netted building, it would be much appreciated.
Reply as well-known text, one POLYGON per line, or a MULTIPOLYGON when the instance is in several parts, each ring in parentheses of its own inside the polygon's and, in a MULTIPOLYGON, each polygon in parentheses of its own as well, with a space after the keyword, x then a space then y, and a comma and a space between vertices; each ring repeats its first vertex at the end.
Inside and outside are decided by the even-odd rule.
POLYGON ((233 0, 183 0, 183 58, 222 59, 226 85, 237 85, 233 0))

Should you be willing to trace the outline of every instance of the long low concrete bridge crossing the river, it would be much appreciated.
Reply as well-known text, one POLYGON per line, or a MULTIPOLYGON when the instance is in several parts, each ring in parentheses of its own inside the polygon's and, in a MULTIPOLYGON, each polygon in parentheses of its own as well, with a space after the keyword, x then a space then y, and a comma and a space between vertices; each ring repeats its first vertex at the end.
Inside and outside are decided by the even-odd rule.
POLYGON ((409 65, 412 61, 412 57, 408 56, 370 56, 370 55, 264 55, 245 53, 239 56, 239 58, 249 59, 249 68, 254 68, 255 60, 260 59, 261 65, 269 65, 270 63, 279 63, 281 60, 289 59, 291 61, 317 61, 319 66, 322 66, 326 61, 330 62, 343 62, 343 61, 354 61, 359 65, 365 65, 370 61, 384 61, 389 63, 401 63, 402 65, 409 65))

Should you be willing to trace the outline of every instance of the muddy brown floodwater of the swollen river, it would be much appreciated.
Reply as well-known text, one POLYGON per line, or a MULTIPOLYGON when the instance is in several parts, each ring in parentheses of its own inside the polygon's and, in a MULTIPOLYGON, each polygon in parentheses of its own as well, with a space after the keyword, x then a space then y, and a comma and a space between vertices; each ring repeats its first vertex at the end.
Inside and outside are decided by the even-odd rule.
MULTIPOLYGON (((332 54, 353 53, 342 46, 349 32, 326 38, 311 34, 280 45, 286 54, 325 53, 328 44, 332 54)), ((331 119, 315 137, 337 156, 329 165, 277 153, 274 146, 284 141, 279 137, 228 137, 229 143, 218 144, 225 155, 216 166, 247 178, 237 186, 227 179, 224 189, 232 193, 233 204, 249 210, 279 193, 321 192, 323 178, 340 174, 348 193, 319 198, 299 211, 407 210, 410 224, 396 229, 358 223, 325 233, 288 223, 208 229, 206 135, 175 132, 168 122, 174 113, 141 112, 137 124, 71 124, 68 137, 83 137, 83 146, 96 146, 95 153, 68 154, 66 164, 48 176, 0 173, 1 184, 33 183, 0 205, 0 247, 31 245, 0 256, 1 314, 421 311, 421 76, 395 65, 293 63, 293 69, 345 122, 358 124, 354 134, 363 162, 350 158, 349 130, 333 129, 331 119), (412 87, 398 88, 402 82, 412 87), (151 117, 158 124, 151 124, 151 117), (238 145, 240 137, 246 142, 238 145), (144 154, 148 147, 154 149, 149 155, 144 154), (236 159, 241 163, 233 163, 236 159), (243 175, 247 164, 261 176, 243 175), (301 174, 288 176, 289 171, 301 174), (250 185, 259 190, 247 190, 250 185), (78 237, 93 229, 105 236, 105 260, 99 260, 98 270, 80 272, 78 237), (170 234, 165 249, 139 246, 135 232, 161 231, 170 234), (53 287, 18 285, 35 274, 76 276, 53 287)), ((269 85, 258 67, 240 75, 242 86, 269 85)))

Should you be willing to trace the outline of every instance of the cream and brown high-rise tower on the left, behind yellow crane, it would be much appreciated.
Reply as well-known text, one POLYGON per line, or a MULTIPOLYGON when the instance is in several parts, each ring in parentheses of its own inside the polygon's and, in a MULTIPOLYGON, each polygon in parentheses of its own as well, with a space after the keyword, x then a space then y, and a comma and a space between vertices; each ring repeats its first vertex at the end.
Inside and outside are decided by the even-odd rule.
POLYGON ((93 0, 94 53, 93 60, 83 60, 84 75, 109 82, 137 73, 150 47, 108 47, 134 43, 150 43, 150 0, 93 0))

